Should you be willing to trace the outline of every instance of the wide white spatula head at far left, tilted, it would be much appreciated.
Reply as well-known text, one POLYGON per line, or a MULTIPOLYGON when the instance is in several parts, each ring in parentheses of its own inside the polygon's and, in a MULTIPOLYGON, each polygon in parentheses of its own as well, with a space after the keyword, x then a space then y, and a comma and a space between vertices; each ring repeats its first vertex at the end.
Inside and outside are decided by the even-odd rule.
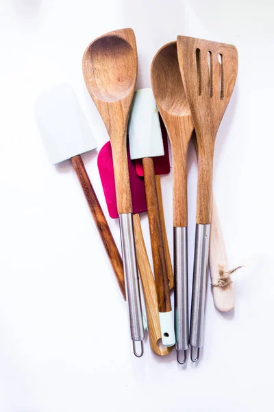
POLYGON ((97 148, 71 84, 42 93, 36 100, 36 119, 53 165, 97 148))

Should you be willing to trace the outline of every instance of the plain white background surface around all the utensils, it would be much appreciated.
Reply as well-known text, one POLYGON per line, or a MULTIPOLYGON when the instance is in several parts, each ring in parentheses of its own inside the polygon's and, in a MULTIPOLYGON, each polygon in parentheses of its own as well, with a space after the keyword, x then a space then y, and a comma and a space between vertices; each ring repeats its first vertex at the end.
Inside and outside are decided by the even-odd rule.
MULTIPOLYGON (((273 411, 272 0, 0 1, 0 411, 273 411), (132 354, 127 310, 77 178, 47 161, 36 127, 41 91, 73 84, 98 146, 108 140, 82 78, 97 36, 132 27, 138 88, 177 34, 238 47, 236 89, 216 141, 214 192, 234 276, 222 315, 208 287, 198 365, 175 352, 132 354)), ((84 162, 107 214, 97 154, 84 162)), ((197 164, 189 154, 189 274, 197 164)), ((162 177, 173 250, 171 175, 162 177)), ((118 222, 108 219, 119 244, 118 222)), ((147 246, 147 217, 142 218, 147 246)), ((119 244, 120 247, 120 244, 119 244)), ((149 252, 150 253, 150 252, 149 252)))

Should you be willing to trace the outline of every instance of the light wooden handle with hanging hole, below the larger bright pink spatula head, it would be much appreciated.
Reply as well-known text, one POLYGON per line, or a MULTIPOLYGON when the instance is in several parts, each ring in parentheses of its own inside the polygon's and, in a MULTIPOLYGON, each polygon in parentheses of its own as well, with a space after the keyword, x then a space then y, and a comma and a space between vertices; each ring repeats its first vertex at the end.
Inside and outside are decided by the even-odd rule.
POLYGON ((161 339, 158 299, 154 283, 153 274, 145 248, 145 241, 142 236, 140 217, 138 214, 133 216, 134 236, 136 244, 136 255, 140 278, 142 281, 142 290, 145 296, 145 305, 147 309, 147 323, 149 325, 149 341, 153 352, 159 356, 166 356, 171 353, 173 347, 159 347, 161 339))

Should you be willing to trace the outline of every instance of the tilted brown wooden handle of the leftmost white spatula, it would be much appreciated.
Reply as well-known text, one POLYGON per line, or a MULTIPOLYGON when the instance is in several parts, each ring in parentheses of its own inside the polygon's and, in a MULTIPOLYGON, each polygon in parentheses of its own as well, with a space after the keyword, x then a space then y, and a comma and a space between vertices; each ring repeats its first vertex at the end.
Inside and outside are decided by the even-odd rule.
POLYGON ((97 225, 97 229, 99 230, 101 240, 103 240, 105 251, 108 253, 108 258, 110 259, 110 263, 112 264, 112 268, 121 289, 121 293, 123 294, 123 298, 125 299, 123 262, 119 250, 116 247, 114 238, 112 237, 110 227, 108 226, 108 222, 105 219, 103 210, 101 209, 95 191, 93 190, 92 184, 90 183, 90 179, 86 172, 86 168, 81 156, 72 157, 71 163, 78 176, 79 182, 82 185, 83 192, 86 196, 86 200, 88 201, 88 206, 90 207, 90 211, 97 225))

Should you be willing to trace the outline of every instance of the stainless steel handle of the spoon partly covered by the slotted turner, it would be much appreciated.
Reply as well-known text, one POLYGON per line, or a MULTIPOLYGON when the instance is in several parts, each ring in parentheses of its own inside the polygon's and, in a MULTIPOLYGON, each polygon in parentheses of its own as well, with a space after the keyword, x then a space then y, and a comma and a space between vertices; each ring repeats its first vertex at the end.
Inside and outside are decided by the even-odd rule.
POLYGON ((174 302, 175 302, 175 336, 177 361, 186 362, 188 350, 188 247, 187 227, 174 227, 174 302), (184 351, 184 359, 180 359, 184 351))

